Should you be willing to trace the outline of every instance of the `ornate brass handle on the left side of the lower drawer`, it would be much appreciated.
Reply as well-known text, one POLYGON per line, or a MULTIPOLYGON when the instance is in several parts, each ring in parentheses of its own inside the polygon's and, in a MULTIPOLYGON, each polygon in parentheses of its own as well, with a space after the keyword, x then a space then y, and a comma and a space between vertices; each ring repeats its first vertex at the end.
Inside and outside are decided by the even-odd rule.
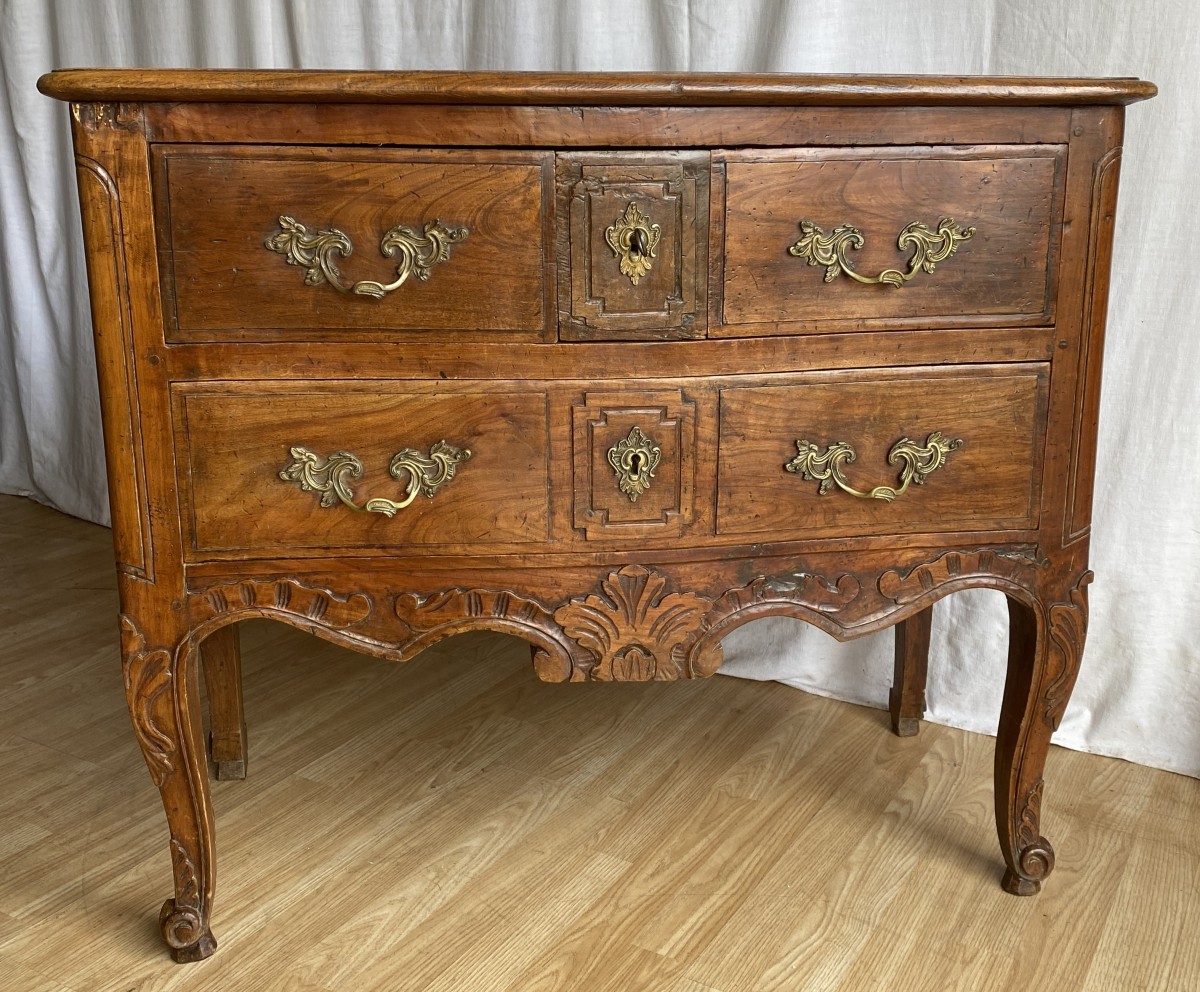
POLYGON ((332 506, 341 500, 352 510, 362 513, 394 517, 397 510, 403 510, 416 499, 418 493, 433 499, 438 487, 454 479, 458 464, 469 457, 469 449, 455 447, 445 441, 432 445, 427 456, 413 447, 397 451, 388 465, 388 471, 392 479, 406 482, 404 498, 400 503, 376 497, 359 506, 354 501, 354 492, 347 480, 362 477, 362 462, 348 451, 338 451, 329 458, 322 458, 307 447, 293 447, 292 462, 280 473, 280 479, 284 482, 299 482, 306 493, 320 493, 322 506, 332 506))

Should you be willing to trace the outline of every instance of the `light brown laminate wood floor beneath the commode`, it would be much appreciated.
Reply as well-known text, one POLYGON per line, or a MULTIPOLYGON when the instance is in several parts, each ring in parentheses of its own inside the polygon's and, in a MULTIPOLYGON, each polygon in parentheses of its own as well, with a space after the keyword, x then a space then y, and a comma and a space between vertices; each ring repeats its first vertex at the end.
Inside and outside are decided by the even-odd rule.
MULTIPOLYGON (((0 988, 1200 988, 1200 782, 1054 748, 1045 891, 1000 889, 990 738, 778 684, 544 685, 244 626, 220 948, 170 961, 109 533, 0 497, 0 988)), ((936 663, 936 659, 935 662, 936 663)), ((998 691, 998 687, 997 687, 998 691)))

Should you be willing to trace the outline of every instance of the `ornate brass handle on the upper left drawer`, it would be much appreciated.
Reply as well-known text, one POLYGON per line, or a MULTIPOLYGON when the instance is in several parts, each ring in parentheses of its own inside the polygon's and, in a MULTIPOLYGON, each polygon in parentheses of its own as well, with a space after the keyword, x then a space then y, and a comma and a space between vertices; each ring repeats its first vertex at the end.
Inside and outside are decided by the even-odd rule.
POLYGON ((415 275, 425 282, 434 265, 450 258, 450 246, 466 236, 467 228, 448 228, 436 220, 425 224, 422 234, 403 224, 396 224, 379 242, 379 251, 388 258, 400 254, 400 260, 396 263, 396 281, 386 285, 372 279, 355 283, 343 281, 332 255, 336 252, 347 258, 354 251, 354 246, 346 232, 337 228, 310 233, 308 228, 295 217, 283 215, 280 217, 280 233, 272 234, 263 245, 283 255, 288 265, 302 266, 305 285, 320 285, 328 282, 338 293, 373 296, 378 300, 403 285, 409 276, 415 275))

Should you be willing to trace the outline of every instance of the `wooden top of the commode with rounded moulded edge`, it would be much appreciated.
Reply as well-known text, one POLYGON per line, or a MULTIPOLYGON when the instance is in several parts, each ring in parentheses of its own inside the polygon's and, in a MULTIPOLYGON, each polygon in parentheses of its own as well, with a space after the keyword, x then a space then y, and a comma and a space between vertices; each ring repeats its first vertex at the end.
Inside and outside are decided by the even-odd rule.
POLYGON ((790 76, 644 72, 342 72, 68 68, 37 82, 79 102, 512 106, 1064 106, 1152 97, 1135 78, 790 76))

